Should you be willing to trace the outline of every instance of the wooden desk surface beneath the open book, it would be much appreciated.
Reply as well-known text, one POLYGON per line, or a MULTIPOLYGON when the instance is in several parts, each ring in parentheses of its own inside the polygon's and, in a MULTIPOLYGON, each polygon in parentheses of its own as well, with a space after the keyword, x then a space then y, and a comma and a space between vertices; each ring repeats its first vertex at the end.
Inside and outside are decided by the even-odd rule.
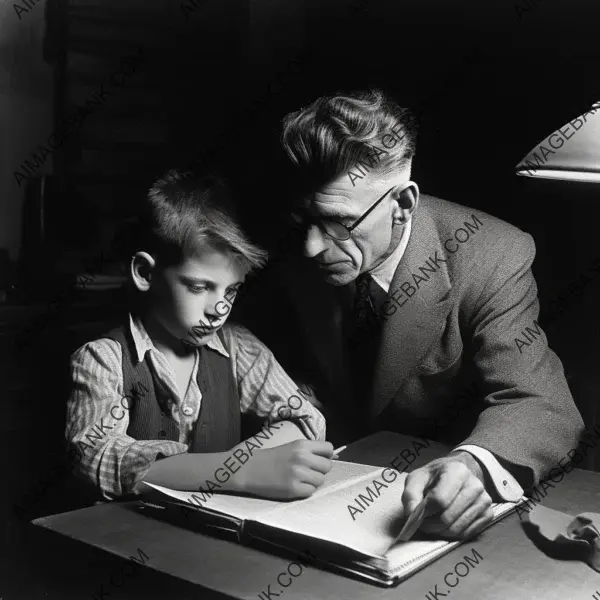
MULTIPOLYGON (((342 458, 384 466, 400 449, 409 445, 409 440, 406 436, 378 433, 349 446, 342 458)), ((428 461, 441 451, 443 447, 432 446, 427 450, 428 454, 423 453, 420 458, 428 461)), ((572 515, 598 510, 600 474, 573 470, 561 483, 556 484, 555 489, 548 492, 543 503, 572 515)), ((345 517, 347 515, 340 515, 340 518, 345 517)), ((288 558, 151 519, 134 512, 132 503, 109 503, 37 519, 34 523, 123 558, 136 555, 136 549, 141 548, 149 557, 147 566, 196 584, 193 588, 181 588, 177 595, 177 585, 169 585, 170 599, 257 598, 259 592, 267 589, 268 584, 271 584, 271 591, 280 590, 281 586, 276 582, 277 575, 285 571, 290 562, 288 558)), ((434 597, 426 594, 436 584, 438 592, 446 592, 448 585, 444 584, 445 574, 453 571, 459 561, 464 562, 464 556, 472 557, 471 549, 475 549, 482 560, 476 565, 471 563, 468 574, 452 589, 453 598, 589 600, 597 589, 600 590, 600 574, 581 562, 559 561, 543 554, 526 536, 517 515, 512 514, 484 532, 479 539, 455 548, 398 587, 382 589, 307 567, 285 590, 285 600, 431 600, 434 597)), ((73 547, 73 551, 77 552, 77 547, 73 547)), ((64 562, 67 575, 70 572, 70 560, 65 559, 64 562)), ((464 571, 464 567, 459 570, 464 571)), ((140 576, 139 581, 131 580, 126 592, 127 598, 164 596, 164 590, 156 595, 156 577, 153 578, 152 585, 148 581, 143 582, 143 579, 140 576)), ((458 578, 449 578, 452 583, 455 579, 458 578)), ((86 595, 95 592, 95 589, 90 589, 92 586, 93 582, 89 582, 86 595)), ((118 591, 112 590, 113 597, 118 591)), ((109 597, 111 590, 106 588, 106 592, 106 597, 109 597)), ((125 591, 121 592, 123 593, 125 591)), ((273 597, 276 598, 275 594, 273 597)), ((438 598, 446 596, 439 593, 438 598)))

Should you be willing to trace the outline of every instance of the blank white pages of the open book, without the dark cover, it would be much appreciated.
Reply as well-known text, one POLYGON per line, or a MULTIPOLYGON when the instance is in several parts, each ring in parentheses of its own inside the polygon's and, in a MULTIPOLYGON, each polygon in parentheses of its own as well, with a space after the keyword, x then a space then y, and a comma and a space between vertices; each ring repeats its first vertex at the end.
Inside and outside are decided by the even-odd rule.
MULTIPOLYGON (((401 499, 406 476, 382 467, 335 461, 323 486, 310 498, 288 502, 217 493, 211 497, 204 493, 202 502, 202 492, 146 485, 189 503, 190 508, 201 506, 345 546, 399 574, 418 568, 431 556, 459 543, 444 540, 394 543, 405 520, 401 499)), ((513 503, 492 505, 495 519, 514 506, 513 503)))

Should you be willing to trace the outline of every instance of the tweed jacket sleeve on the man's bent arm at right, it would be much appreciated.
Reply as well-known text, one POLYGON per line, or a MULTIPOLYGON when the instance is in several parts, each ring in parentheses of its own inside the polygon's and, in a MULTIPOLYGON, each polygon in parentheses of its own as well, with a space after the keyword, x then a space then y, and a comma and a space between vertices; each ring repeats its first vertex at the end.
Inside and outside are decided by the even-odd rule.
POLYGON ((523 232, 510 238, 467 311, 484 408, 462 443, 495 454, 527 489, 576 448, 583 421, 537 322, 535 244, 523 232))

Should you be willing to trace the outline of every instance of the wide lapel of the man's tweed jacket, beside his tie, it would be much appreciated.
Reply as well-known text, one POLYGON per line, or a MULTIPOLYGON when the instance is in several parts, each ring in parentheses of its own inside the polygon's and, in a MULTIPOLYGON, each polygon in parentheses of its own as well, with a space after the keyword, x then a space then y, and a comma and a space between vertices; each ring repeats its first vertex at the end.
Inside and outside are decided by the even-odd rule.
POLYGON ((422 201, 413 217, 411 237, 388 293, 387 311, 392 312, 391 306, 397 310, 383 324, 369 403, 372 420, 387 407, 431 345, 440 339, 451 306, 451 289, 442 240, 427 202, 422 201), (405 282, 415 288, 411 297, 402 289, 411 293, 408 285, 403 285, 405 282), (399 306, 391 299, 392 295, 396 296, 399 306))

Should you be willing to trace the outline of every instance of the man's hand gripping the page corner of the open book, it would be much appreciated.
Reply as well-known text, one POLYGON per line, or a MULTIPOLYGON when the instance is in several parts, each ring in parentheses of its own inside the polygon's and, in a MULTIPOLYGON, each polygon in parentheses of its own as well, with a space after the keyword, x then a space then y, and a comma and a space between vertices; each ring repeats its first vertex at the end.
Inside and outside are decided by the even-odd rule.
POLYGON ((438 458, 408 475, 402 494, 405 514, 425 494, 425 514, 431 516, 420 529, 426 533, 466 539, 492 521, 492 499, 485 491, 481 467, 466 452, 438 458))

